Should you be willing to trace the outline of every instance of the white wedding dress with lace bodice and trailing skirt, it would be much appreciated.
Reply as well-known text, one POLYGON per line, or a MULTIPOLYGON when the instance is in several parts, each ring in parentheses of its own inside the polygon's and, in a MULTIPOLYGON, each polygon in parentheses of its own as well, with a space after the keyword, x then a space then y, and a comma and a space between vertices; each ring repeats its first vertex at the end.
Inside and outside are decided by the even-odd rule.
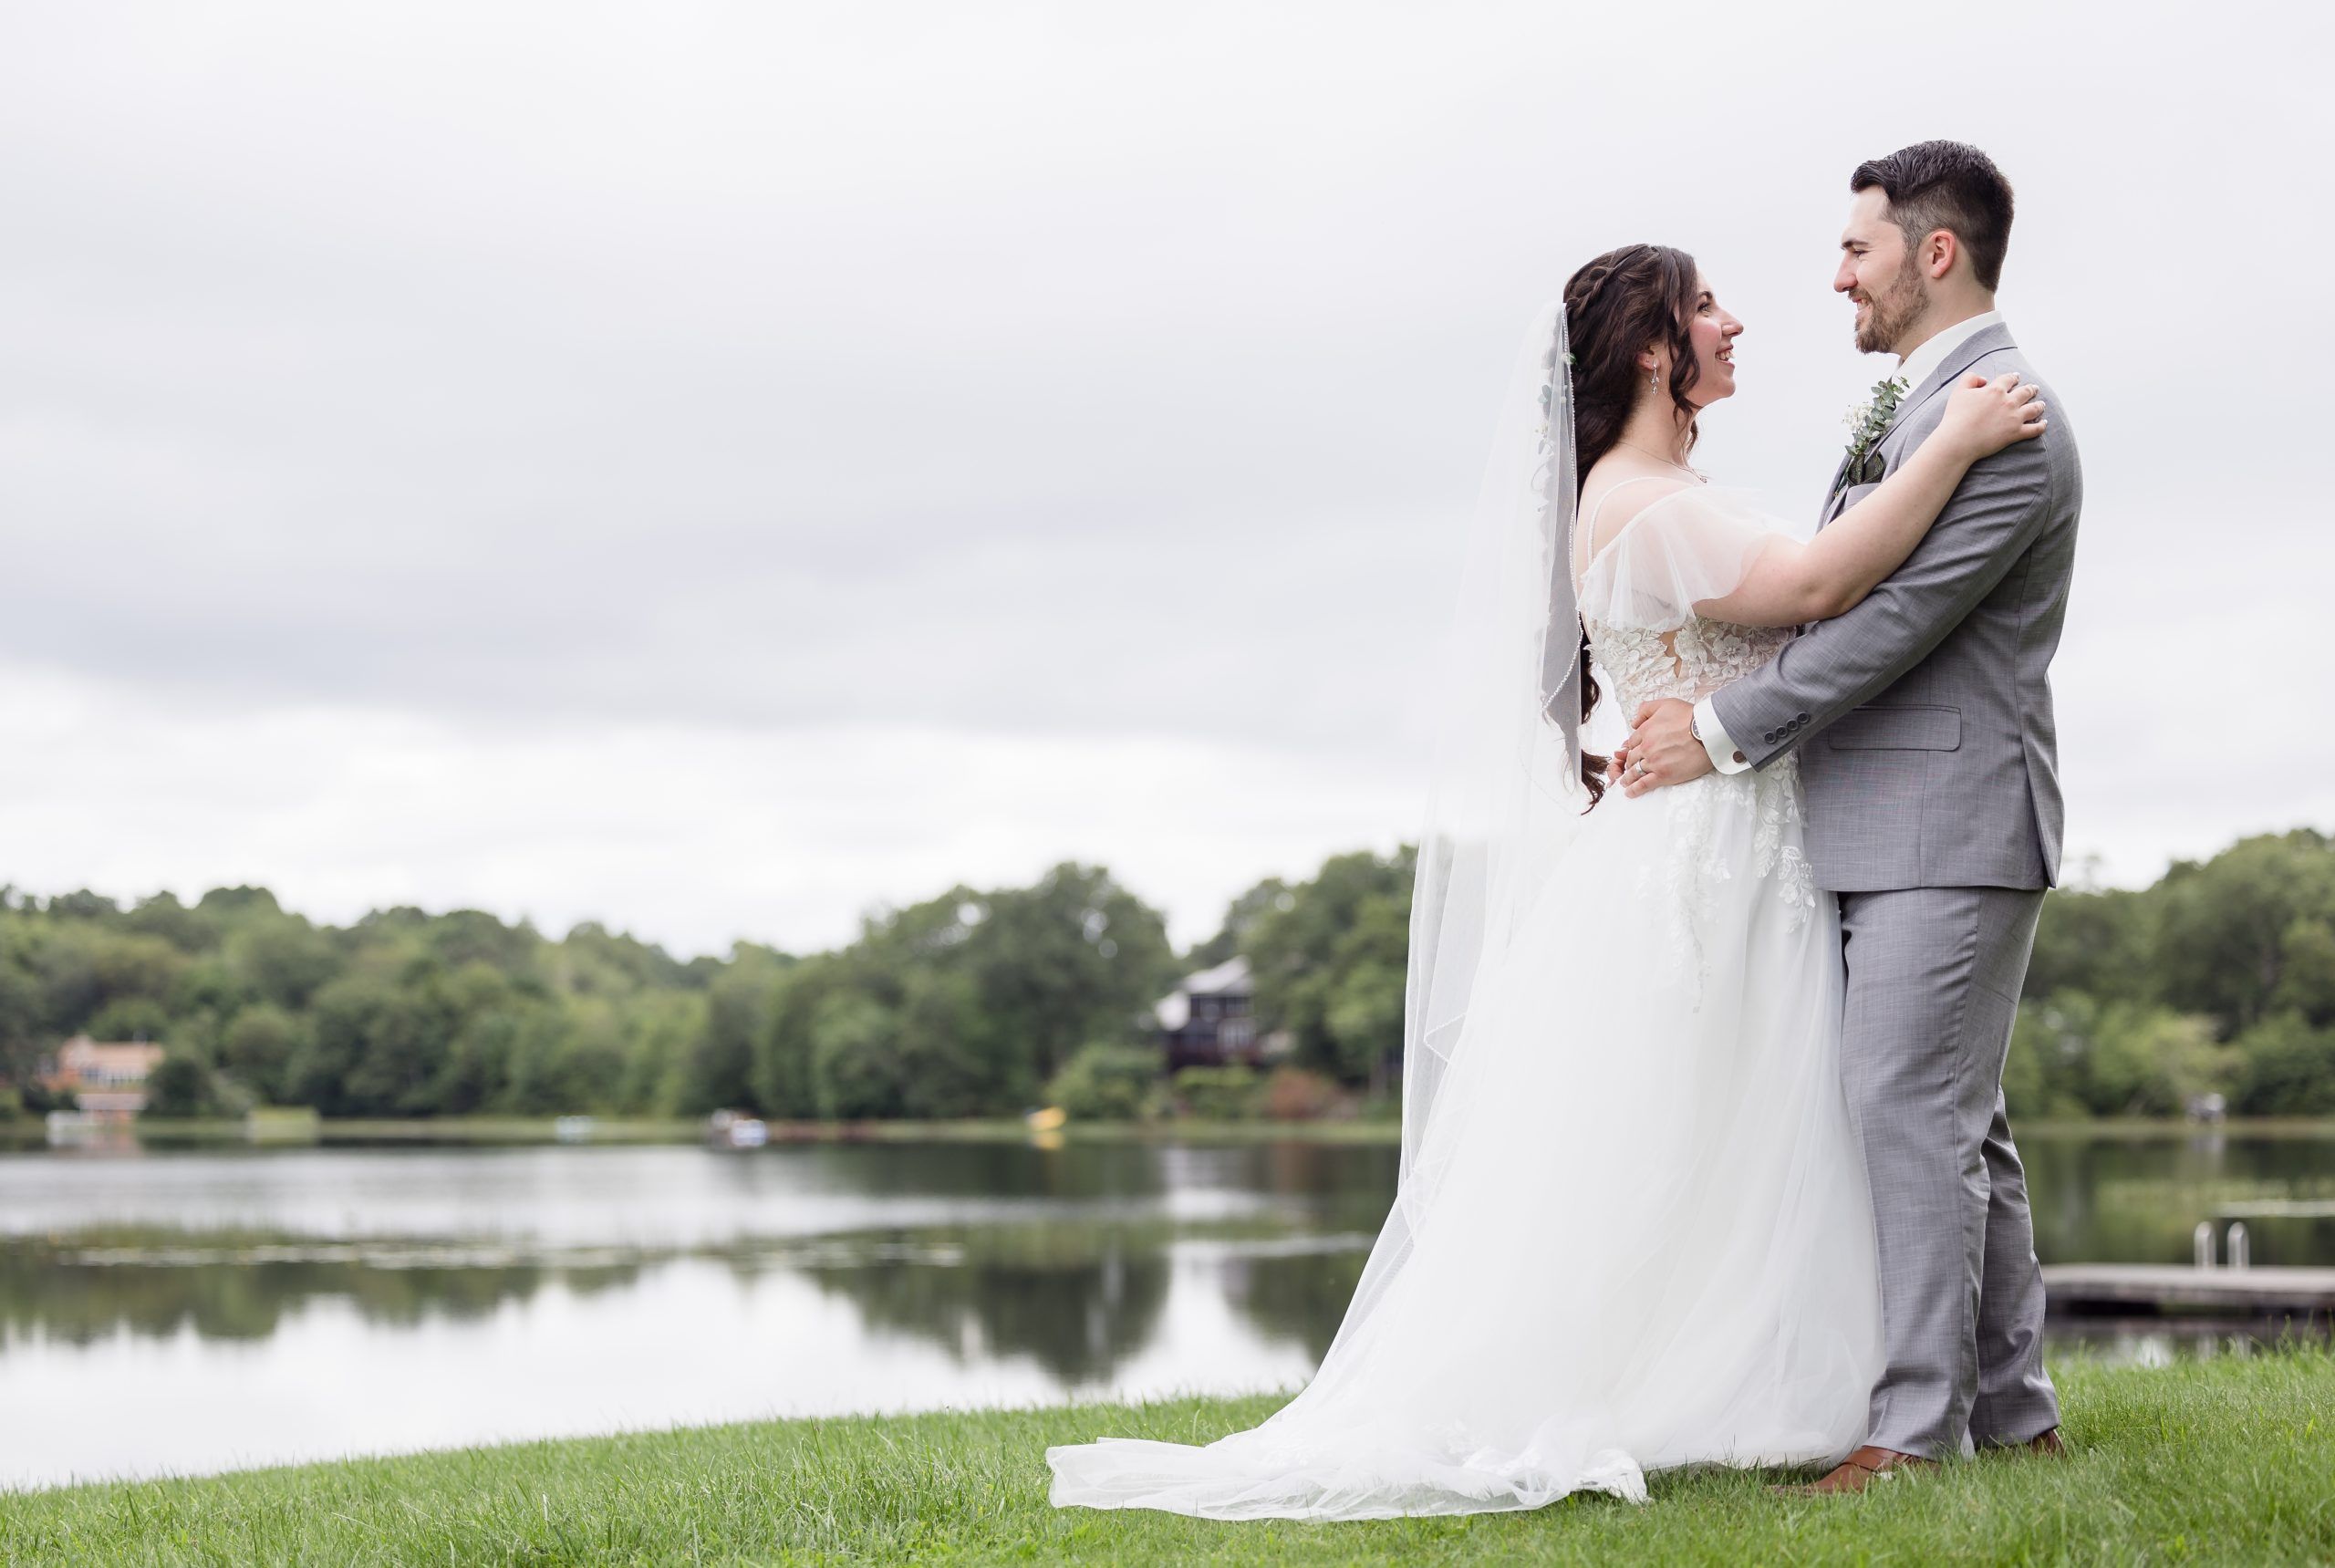
MULTIPOLYGON (((1691 608, 1768 528, 1688 488, 1590 556, 1581 622, 1618 713, 1775 657, 1789 631, 1691 608)), ((1371 1311, 1350 1304, 1315 1379, 1252 1430, 1048 1446, 1055 1505, 1529 1510, 1863 1439, 1873 1220, 1838 1077, 1838 911, 1803 853, 1793 759, 1609 790, 1520 900, 1506 951, 1529 958, 1473 995, 1422 1129, 1438 1180, 1389 1215, 1373 1262, 1406 1250, 1371 1311)))

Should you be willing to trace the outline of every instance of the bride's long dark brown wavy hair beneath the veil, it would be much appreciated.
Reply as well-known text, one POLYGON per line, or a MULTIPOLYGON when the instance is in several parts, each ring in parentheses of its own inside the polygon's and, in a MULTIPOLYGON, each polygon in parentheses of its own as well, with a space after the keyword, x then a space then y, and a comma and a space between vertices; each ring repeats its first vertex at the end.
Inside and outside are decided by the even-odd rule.
MULTIPOLYGON (((1686 395, 1702 376, 1688 322, 1695 320, 1695 257, 1672 245, 1606 250, 1564 280, 1564 334, 1574 348, 1574 481, 1585 481, 1597 458, 1613 451, 1646 372, 1642 348, 1670 346, 1670 402, 1686 416, 1686 446, 1695 446, 1695 404, 1686 395)), ((1581 722, 1599 699, 1590 678, 1590 633, 1581 631, 1581 722)), ((1590 806, 1604 799, 1606 759, 1581 752, 1581 783, 1590 806)))

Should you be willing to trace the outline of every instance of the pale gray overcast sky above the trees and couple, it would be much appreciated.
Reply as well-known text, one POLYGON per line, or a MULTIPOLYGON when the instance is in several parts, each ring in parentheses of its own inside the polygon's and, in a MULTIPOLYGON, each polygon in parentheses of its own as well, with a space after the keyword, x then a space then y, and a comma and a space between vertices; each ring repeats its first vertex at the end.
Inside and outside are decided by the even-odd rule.
MULTIPOLYGON (((12 5, 0 881, 845 942, 1109 865, 1214 930, 1422 809, 1518 337, 1749 325, 1812 521, 1847 175, 2017 187, 2083 444, 2071 855, 2335 827, 2326 7, 12 5), (2113 14, 2113 26, 2104 19, 2113 14)), ((2073 867, 2071 867, 2073 869, 2073 867)))

